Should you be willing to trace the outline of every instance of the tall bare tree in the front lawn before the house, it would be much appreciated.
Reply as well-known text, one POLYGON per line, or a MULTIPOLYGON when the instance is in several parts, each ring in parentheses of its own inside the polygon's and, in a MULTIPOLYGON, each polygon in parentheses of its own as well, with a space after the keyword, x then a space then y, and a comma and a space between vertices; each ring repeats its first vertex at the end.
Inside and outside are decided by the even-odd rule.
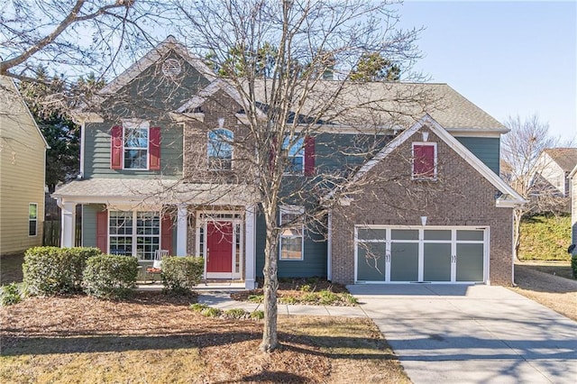
POLYGON ((327 209, 342 194, 375 182, 352 178, 354 161, 349 169, 317 167, 314 175, 305 169, 305 177, 291 177, 302 166, 296 155, 314 145, 310 138, 320 137, 323 126, 347 126, 362 135, 347 148, 331 150, 360 164, 389 140, 392 131, 386 129, 406 124, 408 111, 423 111, 426 97, 416 88, 385 100, 368 96, 369 86, 348 82, 350 69, 366 52, 410 64, 418 56, 417 31, 396 29, 398 15, 389 2, 200 0, 179 2, 179 9, 186 17, 177 23, 179 34, 191 50, 212 61, 209 67, 219 69, 224 87, 242 105, 247 132, 235 135, 232 145, 245 154, 234 161, 245 170, 243 182, 256 189, 266 222, 261 350, 270 352, 279 344, 279 235, 300 224, 307 231, 324 227, 327 209), (263 76, 263 50, 269 76, 263 76), (334 193, 319 204, 329 191, 334 193), (279 206, 295 205, 304 208, 279 220, 279 206))

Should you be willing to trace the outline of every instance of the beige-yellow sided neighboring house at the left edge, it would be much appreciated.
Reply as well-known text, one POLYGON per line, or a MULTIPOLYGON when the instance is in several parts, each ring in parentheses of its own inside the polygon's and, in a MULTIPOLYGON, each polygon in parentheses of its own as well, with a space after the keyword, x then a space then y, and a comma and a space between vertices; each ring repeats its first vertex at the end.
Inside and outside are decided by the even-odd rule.
POLYGON ((0 253, 42 245, 48 144, 11 78, 0 76, 0 253))

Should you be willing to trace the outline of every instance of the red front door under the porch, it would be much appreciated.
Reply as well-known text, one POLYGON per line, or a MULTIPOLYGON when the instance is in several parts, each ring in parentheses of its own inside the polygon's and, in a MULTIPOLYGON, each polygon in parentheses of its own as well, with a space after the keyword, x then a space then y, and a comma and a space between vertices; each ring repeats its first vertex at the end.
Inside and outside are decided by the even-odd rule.
POLYGON ((206 224, 206 272, 233 271, 233 223, 206 224))

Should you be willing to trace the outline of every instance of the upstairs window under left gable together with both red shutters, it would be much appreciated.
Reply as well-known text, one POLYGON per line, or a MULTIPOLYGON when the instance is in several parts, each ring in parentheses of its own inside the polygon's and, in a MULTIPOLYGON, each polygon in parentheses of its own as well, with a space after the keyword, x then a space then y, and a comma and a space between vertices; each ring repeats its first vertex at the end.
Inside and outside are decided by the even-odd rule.
POLYGON ((126 121, 112 128, 112 169, 160 169, 160 128, 126 121))

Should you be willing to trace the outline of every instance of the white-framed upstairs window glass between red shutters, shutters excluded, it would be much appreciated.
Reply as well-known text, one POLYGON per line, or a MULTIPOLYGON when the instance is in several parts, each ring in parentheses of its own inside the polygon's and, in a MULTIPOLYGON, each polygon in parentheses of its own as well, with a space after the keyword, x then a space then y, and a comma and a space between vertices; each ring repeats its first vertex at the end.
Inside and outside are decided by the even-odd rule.
POLYGON ((148 169, 148 123, 124 123, 124 169, 148 169))

